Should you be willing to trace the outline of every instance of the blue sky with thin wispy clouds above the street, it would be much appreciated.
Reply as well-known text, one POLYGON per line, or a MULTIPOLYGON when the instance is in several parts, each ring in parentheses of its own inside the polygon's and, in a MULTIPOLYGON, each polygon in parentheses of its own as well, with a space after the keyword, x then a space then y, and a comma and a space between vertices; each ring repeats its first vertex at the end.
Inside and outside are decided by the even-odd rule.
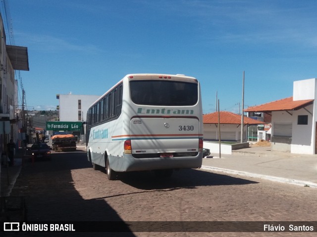
POLYGON ((315 0, 5 2, 7 38, 28 47, 18 81, 35 110, 55 110, 56 94, 102 95, 126 74, 162 73, 199 79, 204 114, 216 91, 220 110, 238 113, 243 71, 244 108, 317 77, 315 0))

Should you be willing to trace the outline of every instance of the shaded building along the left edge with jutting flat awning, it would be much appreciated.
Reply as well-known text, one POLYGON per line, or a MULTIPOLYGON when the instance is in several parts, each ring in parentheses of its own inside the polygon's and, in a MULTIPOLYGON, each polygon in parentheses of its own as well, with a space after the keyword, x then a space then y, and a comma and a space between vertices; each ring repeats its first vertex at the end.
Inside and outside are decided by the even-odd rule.
MULTIPOLYGON (((0 16, 0 155, 5 152, 6 143, 10 139, 18 147, 25 139, 25 126, 22 122, 24 115, 22 105, 18 104, 16 70, 29 71, 28 49, 6 44, 3 20, 0 16)), ((23 98, 24 94, 20 96, 23 98)))

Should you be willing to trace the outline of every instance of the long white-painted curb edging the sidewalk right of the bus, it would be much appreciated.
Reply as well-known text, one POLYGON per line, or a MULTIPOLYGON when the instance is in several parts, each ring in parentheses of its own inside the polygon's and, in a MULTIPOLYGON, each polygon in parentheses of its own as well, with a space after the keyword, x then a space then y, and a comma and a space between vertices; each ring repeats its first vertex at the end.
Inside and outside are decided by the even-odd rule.
POLYGON ((264 175, 264 174, 255 174, 255 173, 249 173, 249 172, 245 172, 245 171, 236 171, 236 170, 231 170, 231 169, 223 169, 223 168, 217 168, 217 167, 211 167, 211 166, 205 166, 205 165, 202 165, 201 169, 211 170, 211 171, 220 171, 220 172, 224 172, 224 173, 237 174, 237 175, 248 176, 248 177, 252 177, 252 178, 266 179, 266 180, 270 180, 270 181, 300 185, 300 186, 304 186, 304 187, 317 188, 316 183, 309 182, 309 181, 280 178, 280 177, 269 176, 269 175, 264 175))

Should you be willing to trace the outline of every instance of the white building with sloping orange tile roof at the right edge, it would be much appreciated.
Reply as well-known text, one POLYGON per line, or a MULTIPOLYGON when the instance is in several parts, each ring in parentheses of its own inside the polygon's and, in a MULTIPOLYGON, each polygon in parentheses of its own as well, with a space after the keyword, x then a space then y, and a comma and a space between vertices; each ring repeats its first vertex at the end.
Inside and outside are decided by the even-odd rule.
POLYGON ((317 154, 317 79, 293 82, 293 96, 249 107, 245 112, 272 115, 271 149, 317 154))

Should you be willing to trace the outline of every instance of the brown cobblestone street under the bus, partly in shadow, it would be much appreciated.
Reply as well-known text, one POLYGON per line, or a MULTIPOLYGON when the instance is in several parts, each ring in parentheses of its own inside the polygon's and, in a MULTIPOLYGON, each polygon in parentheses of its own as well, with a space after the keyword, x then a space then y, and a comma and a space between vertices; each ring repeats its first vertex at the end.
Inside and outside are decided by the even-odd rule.
MULTIPOLYGON (((109 181, 106 172, 93 170, 85 151, 53 153, 52 161, 26 163, 12 195, 26 197, 27 221, 316 221, 317 193, 312 188, 194 169, 175 171, 169 180, 157 179, 154 172, 136 172, 109 181)), ((39 236, 62 234, 87 235, 39 236)), ((303 234, 138 232, 106 236, 303 234)))

